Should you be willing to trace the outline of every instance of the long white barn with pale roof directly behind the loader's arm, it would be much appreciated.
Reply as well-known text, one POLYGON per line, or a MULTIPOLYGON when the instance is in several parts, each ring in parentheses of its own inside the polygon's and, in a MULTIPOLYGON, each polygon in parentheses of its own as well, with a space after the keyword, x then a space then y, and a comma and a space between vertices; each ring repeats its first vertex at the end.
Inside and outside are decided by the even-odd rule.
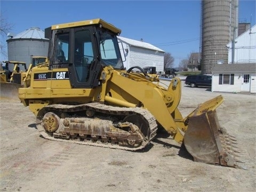
POLYGON ((126 61, 124 61, 124 67, 126 67, 126 69, 139 66, 141 68, 156 67, 157 72, 164 71, 163 50, 149 43, 125 37, 118 36, 117 39, 123 44, 123 47, 121 44, 119 44, 119 47, 122 58, 124 58, 124 55, 126 57, 126 61))

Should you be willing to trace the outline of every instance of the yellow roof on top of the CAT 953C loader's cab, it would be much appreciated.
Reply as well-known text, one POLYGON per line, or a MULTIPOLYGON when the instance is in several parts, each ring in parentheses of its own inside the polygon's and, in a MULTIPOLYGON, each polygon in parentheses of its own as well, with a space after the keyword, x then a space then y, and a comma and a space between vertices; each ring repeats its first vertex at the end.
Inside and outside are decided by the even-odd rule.
POLYGON ((116 34, 121 34, 121 29, 116 28, 115 26, 111 25, 110 23, 108 23, 106 21, 103 21, 102 19, 91 19, 91 20, 85 20, 85 21, 62 23, 62 24, 58 24, 58 25, 53 25, 52 30, 69 28, 69 27, 86 26, 86 25, 97 25, 97 24, 101 24, 103 28, 107 28, 116 34))

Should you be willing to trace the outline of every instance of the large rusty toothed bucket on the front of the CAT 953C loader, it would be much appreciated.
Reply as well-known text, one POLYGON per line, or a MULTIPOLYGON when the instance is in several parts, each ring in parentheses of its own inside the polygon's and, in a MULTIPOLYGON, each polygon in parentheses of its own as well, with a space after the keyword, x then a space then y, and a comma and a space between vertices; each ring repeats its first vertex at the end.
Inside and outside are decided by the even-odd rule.
POLYGON ((223 101, 221 96, 199 105, 188 118, 184 145, 194 161, 239 167, 234 157, 234 137, 219 125, 215 108, 223 101), (215 103, 215 106, 214 106, 215 103))

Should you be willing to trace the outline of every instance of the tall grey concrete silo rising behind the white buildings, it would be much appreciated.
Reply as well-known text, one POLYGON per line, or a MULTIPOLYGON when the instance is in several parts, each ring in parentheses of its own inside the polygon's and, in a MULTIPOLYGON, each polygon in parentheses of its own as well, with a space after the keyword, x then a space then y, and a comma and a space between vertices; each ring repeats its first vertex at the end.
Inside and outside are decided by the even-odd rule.
POLYGON ((202 0, 202 73, 211 74, 217 63, 228 63, 228 47, 237 37, 238 0, 202 0))

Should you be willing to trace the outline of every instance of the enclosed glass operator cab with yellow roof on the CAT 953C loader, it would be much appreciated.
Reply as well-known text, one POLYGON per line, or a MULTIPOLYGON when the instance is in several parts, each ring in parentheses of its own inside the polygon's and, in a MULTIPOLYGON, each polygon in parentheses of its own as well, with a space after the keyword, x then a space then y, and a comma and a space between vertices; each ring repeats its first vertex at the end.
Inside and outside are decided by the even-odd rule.
POLYGON ((103 20, 67 23, 45 31, 51 38, 50 69, 68 68, 74 88, 98 86, 104 66, 124 69, 116 37, 121 30, 103 20))

